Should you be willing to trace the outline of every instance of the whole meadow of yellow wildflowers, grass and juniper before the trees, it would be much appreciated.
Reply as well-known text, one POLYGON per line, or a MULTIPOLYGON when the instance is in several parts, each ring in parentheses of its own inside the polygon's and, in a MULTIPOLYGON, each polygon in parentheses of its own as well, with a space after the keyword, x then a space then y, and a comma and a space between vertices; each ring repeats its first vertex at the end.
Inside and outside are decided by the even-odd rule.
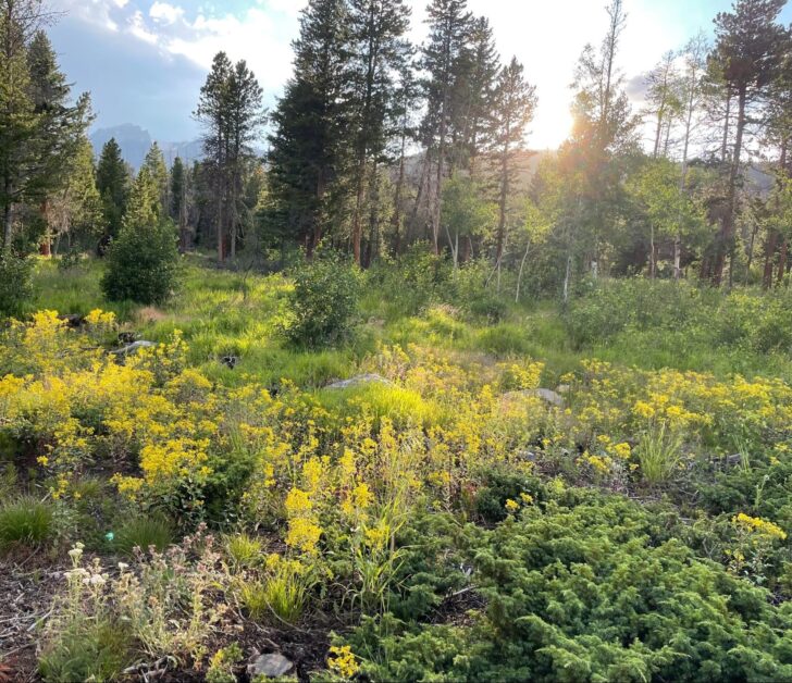
POLYGON ((37 263, 0 344, 0 680, 792 678, 788 289, 300 270, 193 254, 136 307, 37 263), (295 342, 344 283, 343 334, 295 342))

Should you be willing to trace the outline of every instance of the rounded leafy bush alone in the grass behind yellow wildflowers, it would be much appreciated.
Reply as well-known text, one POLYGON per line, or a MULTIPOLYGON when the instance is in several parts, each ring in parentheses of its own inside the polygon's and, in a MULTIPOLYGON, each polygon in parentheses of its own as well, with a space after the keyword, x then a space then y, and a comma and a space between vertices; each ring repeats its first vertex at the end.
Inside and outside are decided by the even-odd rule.
POLYGON ((348 336, 355 324, 360 285, 360 271, 337 258, 326 257, 301 266, 292 294, 292 342, 320 347, 348 336))

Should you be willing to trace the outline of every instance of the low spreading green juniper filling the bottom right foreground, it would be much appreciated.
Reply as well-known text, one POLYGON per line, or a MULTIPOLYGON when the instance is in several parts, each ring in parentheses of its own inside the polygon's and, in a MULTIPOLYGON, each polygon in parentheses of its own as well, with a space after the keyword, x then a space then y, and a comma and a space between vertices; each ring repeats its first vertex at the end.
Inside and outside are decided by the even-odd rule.
POLYGON ((469 625, 363 621, 349 642, 371 678, 737 681, 792 673, 788 636, 774 630, 789 610, 696 559, 673 538, 679 523, 666 510, 581 489, 536 493, 546 502, 519 519, 443 538, 440 552, 449 544, 462 549, 486 599, 469 625))

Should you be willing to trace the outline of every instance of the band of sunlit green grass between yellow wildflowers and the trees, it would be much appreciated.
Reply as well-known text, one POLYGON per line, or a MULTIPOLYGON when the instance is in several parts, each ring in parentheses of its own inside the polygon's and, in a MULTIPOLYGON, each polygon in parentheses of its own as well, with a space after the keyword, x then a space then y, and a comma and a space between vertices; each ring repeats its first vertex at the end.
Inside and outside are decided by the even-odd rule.
MULTIPOLYGON (((582 326, 574 333, 586 338, 586 325, 604 325, 608 334, 593 331, 587 337, 591 340, 576 347, 555 301, 525 300, 520 305, 508 301, 496 323, 442 303, 407 313, 417 310, 416 307, 407 306, 393 291, 381 290, 378 281, 371 278, 361 300, 363 322, 357 334, 338 348, 310 351, 289 346, 283 333, 292 289, 283 275, 218 270, 207 257, 191 254, 184 261, 178 295, 160 308, 141 309, 102 299, 99 288, 102 269, 103 264, 96 259, 85 260, 71 271, 59 270, 52 261, 39 260, 35 274, 37 296, 30 310, 50 308, 63 313, 87 313, 94 308, 112 310, 125 327, 153 342, 164 342, 174 330, 181 330, 189 346, 189 363, 212 382, 227 386, 252 378, 270 387, 288 380, 300 387, 319 388, 356 374, 360 361, 375 352, 378 344, 398 344, 403 348, 414 344, 480 352, 496 359, 542 360, 545 363, 542 382, 546 386, 574 370, 582 358, 649 370, 697 370, 719 377, 741 373, 792 380, 791 353, 763 353, 742 344, 716 346, 706 325, 696 323, 675 330, 666 323, 653 326, 652 321, 643 321, 644 326, 640 328, 612 328, 608 320, 634 315, 612 311, 619 305, 618 293, 607 294, 616 298, 598 303, 599 309, 593 309, 587 319, 584 310, 584 316, 579 316, 582 326), (220 362, 227 355, 239 358, 234 370, 220 362)), ((638 297, 636 301, 643 306, 651 295, 643 291, 642 284, 626 283, 623 287, 627 288, 624 307, 632 306, 630 297, 638 297), (632 289, 638 295, 630 294, 632 289)), ((715 311, 719 300, 706 291, 698 298, 678 298, 680 306, 690 308, 690 314, 698 318, 706 318, 701 308, 715 311)), ((672 321, 672 306, 664 306, 661 320, 672 321), (666 309, 669 310, 665 312, 666 309)), ((642 318, 639 311, 638 318, 643 320, 645 315, 642 318)))

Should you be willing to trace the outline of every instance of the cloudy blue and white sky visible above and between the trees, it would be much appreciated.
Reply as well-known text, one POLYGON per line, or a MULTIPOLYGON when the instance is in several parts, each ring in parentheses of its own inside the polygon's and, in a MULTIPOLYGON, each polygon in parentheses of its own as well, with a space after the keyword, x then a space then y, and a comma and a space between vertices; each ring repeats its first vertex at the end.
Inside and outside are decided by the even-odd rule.
MULTIPOLYGON (((412 7, 412 38, 425 36, 428 0, 412 7)), ((134 123, 159 140, 198 136, 193 120, 212 57, 245 59, 272 107, 292 72, 290 42, 307 0, 50 0, 60 17, 50 36, 74 90, 90 91, 96 127, 134 123)), ((529 146, 557 147, 571 125, 572 75, 586 42, 607 28, 606 0, 469 0, 495 32, 500 57, 523 63, 539 108, 529 146)), ((619 64, 636 107, 642 74, 700 29, 731 0, 624 0, 628 13, 619 64)), ((781 18, 792 22, 792 2, 781 18)))

